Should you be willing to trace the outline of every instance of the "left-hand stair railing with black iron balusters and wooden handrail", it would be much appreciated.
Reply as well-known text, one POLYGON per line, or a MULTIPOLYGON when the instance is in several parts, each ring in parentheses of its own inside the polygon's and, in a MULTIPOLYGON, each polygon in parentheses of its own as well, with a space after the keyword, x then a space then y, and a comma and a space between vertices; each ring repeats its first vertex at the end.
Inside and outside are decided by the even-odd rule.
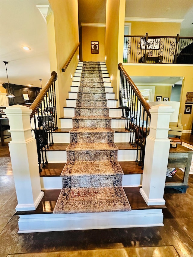
POLYGON ((57 73, 52 71, 51 77, 30 106, 31 127, 36 138, 39 171, 48 164, 46 149, 54 144, 53 131, 58 129, 55 80, 57 73))

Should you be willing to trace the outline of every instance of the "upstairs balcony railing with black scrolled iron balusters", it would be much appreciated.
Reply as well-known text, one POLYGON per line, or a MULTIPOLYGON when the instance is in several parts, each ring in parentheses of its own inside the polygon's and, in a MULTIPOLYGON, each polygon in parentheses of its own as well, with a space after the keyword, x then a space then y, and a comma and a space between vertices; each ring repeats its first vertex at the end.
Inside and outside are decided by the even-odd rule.
POLYGON ((123 62, 193 64, 193 37, 125 35, 123 62))

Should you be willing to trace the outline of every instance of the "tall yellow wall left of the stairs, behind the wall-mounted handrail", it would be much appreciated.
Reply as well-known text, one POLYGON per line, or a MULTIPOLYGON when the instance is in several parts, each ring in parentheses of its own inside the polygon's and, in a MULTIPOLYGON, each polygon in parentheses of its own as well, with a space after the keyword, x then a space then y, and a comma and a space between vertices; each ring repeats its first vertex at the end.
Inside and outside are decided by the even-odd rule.
MULTIPOLYGON (((62 67, 68 60, 71 52, 78 45, 78 1, 77 0, 49 0, 53 13, 47 18, 49 40, 50 67, 57 69, 57 99, 59 99, 58 117, 64 116, 63 107, 72 84, 73 74, 78 64, 78 50, 72 58, 67 70, 62 67), (55 49, 53 49, 53 47, 55 49)), ((74 75, 74 74, 73 74, 74 75)))

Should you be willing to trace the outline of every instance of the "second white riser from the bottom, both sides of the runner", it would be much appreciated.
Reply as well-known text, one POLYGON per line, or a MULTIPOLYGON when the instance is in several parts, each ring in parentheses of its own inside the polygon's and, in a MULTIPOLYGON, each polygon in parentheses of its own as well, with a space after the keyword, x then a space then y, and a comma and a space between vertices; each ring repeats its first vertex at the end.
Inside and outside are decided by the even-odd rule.
MULTIPOLYGON (((65 165, 65 164, 64 164, 65 165)), ((62 170, 61 170, 62 173, 62 170)), ((122 186, 141 186, 143 174, 123 175, 122 186)), ((62 189, 62 178, 59 177, 40 177, 41 189, 62 189)))

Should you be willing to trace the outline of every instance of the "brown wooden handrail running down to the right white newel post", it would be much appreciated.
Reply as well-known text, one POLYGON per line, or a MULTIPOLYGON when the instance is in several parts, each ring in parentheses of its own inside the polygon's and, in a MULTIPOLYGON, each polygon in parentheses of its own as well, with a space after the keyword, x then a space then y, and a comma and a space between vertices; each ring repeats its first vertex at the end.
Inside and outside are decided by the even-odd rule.
POLYGON ((135 92, 135 95, 138 97, 139 101, 141 102, 141 105, 147 112, 147 115, 151 118, 151 114, 149 112, 149 109, 151 109, 151 106, 147 103, 147 101, 144 99, 144 96, 141 94, 139 89, 135 86, 133 80, 129 77, 129 75, 123 68, 123 64, 121 62, 118 64, 118 69, 119 69, 119 71, 122 71, 123 75, 125 76, 126 80, 129 83, 129 85, 132 87, 133 91, 135 92))

